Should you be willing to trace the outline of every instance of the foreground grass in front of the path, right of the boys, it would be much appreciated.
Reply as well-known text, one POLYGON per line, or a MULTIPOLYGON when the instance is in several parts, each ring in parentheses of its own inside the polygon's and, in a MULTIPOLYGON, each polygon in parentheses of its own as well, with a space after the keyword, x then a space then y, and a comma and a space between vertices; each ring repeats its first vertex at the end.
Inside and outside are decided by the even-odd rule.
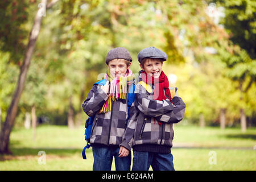
POLYGON ((251 150, 181 149, 174 148, 176 170, 253 170, 256 169, 256 154, 251 150), (209 163, 209 152, 216 152, 216 164, 209 163))

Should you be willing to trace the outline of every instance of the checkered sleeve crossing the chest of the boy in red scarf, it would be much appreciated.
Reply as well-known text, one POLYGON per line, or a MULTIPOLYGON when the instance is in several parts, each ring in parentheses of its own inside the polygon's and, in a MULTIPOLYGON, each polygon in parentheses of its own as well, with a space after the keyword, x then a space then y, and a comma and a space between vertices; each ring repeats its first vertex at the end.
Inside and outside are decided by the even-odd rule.
POLYGON ((158 101, 148 98, 146 89, 141 84, 137 84, 135 88, 135 106, 150 117, 158 117, 174 109, 169 100, 158 101))

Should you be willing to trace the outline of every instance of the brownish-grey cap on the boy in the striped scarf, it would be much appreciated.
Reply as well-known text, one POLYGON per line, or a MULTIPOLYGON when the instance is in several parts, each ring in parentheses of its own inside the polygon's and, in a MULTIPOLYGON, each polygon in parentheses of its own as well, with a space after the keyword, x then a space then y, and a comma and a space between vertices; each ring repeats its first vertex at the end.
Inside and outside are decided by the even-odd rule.
POLYGON ((114 49, 111 49, 108 52, 108 55, 106 56, 106 64, 109 64, 109 61, 113 59, 125 59, 127 61, 133 61, 131 58, 130 52, 123 47, 117 47, 114 49))

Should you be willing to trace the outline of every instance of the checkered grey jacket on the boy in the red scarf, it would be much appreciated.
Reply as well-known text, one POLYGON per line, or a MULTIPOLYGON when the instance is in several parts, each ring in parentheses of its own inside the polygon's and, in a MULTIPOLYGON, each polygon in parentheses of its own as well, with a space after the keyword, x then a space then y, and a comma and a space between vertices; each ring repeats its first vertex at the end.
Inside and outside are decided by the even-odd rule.
MULTIPOLYGON (((154 90, 154 85, 151 85, 154 90)), ((148 93, 141 85, 135 88, 135 102, 131 105, 127 129, 120 146, 129 150, 134 145, 158 144, 172 147, 174 130, 172 124, 180 122, 185 113, 185 103, 178 96, 170 100, 152 100, 153 92, 148 93), (154 119, 155 118, 155 119, 154 119), (156 120, 156 122, 155 122, 156 120), (159 125, 158 122, 163 123, 159 125)))

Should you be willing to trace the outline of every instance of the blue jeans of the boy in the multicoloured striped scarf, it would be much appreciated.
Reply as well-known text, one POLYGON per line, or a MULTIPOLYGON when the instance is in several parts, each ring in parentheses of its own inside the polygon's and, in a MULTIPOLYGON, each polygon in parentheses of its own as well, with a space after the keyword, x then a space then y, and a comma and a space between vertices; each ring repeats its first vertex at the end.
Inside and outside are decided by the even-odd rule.
POLYGON ((130 171, 131 153, 128 156, 119 158, 119 147, 93 146, 93 171, 110 171, 113 157, 115 158, 116 171, 130 171))

